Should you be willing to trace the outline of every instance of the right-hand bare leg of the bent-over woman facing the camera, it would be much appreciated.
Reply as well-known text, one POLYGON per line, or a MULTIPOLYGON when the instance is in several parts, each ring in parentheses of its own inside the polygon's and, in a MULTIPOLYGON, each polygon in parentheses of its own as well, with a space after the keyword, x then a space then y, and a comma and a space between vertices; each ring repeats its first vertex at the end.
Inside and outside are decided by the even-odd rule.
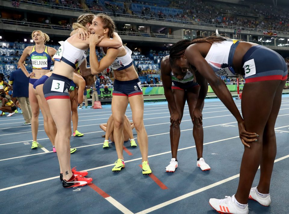
MULTIPOLYGON (((189 112, 190 112, 190 115, 192 118, 192 122, 194 124, 193 136, 194 136, 194 140, 195 140, 195 144, 196 144, 198 159, 203 157, 203 143, 204 143, 203 125, 202 124, 199 125, 196 120, 193 121, 193 113, 194 113, 194 109, 195 109, 197 101, 198 101, 199 90, 200 90, 200 87, 194 87, 194 88, 192 88, 191 91, 187 92, 187 101, 188 101, 188 106, 189 106, 189 112)), ((204 102, 202 103, 201 111, 203 111, 203 108, 204 108, 204 102)))

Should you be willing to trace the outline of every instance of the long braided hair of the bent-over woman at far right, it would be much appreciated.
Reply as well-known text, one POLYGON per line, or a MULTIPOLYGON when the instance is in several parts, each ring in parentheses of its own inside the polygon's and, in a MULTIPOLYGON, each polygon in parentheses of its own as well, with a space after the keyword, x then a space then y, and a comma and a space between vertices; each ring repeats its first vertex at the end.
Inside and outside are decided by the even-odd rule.
POLYGON ((208 37, 197 37, 195 39, 183 39, 174 45, 172 45, 171 50, 169 52, 169 63, 173 65, 173 62, 175 59, 181 58, 185 55, 185 50, 188 46, 194 43, 200 43, 200 42, 207 42, 210 44, 213 43, 220 43, 222 41, 225 41, 224 38, 219 36, 208 36, 208 37))

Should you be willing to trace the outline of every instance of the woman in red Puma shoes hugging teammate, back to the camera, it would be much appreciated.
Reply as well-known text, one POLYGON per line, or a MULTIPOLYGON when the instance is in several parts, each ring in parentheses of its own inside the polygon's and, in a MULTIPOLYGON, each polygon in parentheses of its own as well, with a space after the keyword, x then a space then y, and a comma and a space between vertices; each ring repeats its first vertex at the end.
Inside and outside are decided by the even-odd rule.
MULTIPOLYGON (((94 17, 93 14, 83 14, 78 18, 77 25, 90 32, 89 27, 94 17)), ((43 93, 57 127, 54 142, 60 170, 63 173, 63 187, 83 186, 92 181, 92 178, 74 176, 75 172, 70 167, 71 105, 68 93, 75 68, 79 67, 81 72, 88 71, 90 73, 90 68, 86 66, 85 54, 89 48, 89 39, 80 40, 75 34, 70 36, 54 55, 54 58, 59 61, 55 61, 53 74, 43 85, 43 93), (81 65, 79 65, 80 63, 81 65), (61 111, 59 110, 60 106, 61 111)), ((103 37, 98 38, 96 43, 100 43, 102 46, 111 46, 115 44, 115 40, 118 40, 118 43, 121 42, 117 36, 113 40, 102 39, 103 37)), ((83 89, 79 88, 79 91, 83 91, 83 89)), ((80 92, 77 101, 82 103, 82 100, 83 92, 80 92)))

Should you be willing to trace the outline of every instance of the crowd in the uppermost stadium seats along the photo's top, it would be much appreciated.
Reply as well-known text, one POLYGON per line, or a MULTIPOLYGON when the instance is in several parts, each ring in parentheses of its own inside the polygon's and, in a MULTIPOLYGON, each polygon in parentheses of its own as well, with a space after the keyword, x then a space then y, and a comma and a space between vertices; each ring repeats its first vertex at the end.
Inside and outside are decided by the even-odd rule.
MULTIPOLYGON (((86 0, 86 4, 80 4, 77 0, 25 0, 23 2, 59 9, 91 11, 93 13, 105 12, 113 16, 129 15, 146 19, 158 18, 174 22, 185 21, 196 24, 232 26, 238 29, 289 30, 289 8, 274 7, 261 3, 230 4, 201 0, 157 0, 153 3, 150 1, 132 1, 130 4, 126 4, 126 1, 112 2, 105 0, 86 0), (127 5, 130 5, 130 8, 127 5)), ((15 4, 15 1, 13 1, 13 4, 15 4)), ((68 28, 70 26, 64 24, 63 27, 68 28)))

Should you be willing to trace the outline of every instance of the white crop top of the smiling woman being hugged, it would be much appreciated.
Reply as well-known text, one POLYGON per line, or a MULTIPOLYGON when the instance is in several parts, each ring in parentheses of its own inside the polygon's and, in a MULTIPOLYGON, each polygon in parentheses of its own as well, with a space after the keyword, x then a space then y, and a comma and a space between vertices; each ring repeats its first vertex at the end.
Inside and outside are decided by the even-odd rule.
MULTIPOLYGON (((126 68, 129 68, 130 66, 132 66, 132 51, 126 47, 124 45, 125 49, 126 49, 126 55, 124 56, 118 56, 114 61, 113 63, 110 65, 110 67, 113 69, 113 70, 116 70, 116 71, 121 71, 121 70, 124 70, 126 68)), ((106 55, 103 51, 103 47, 99 47, 101 49, 101 52, 103 53, 103 55, 106 55)))

